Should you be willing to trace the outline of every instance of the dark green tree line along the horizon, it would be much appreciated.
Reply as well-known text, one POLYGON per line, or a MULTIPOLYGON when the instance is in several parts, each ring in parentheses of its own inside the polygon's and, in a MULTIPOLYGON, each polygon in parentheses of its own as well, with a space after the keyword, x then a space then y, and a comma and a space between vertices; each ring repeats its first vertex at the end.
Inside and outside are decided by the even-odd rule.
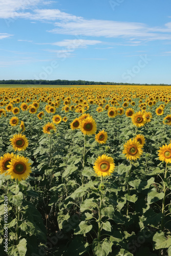
POLYGON ((47 84, 47 85, 61 85, 61 86, 92 86, 92 85, 126 85, 126 86, 171 86, 171 84, 148 84, 148 83, 123 83, 123 82, 95 82, 95 81, 84 81, 84 80, 0 80, 0 84, 47 84))

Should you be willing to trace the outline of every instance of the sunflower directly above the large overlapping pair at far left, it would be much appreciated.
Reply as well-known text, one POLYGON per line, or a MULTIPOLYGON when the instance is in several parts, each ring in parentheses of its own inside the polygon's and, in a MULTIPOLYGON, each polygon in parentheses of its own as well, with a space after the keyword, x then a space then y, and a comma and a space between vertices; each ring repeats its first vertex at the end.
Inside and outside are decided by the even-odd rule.
POLYGON ((25 135, 22 134, 15 134, 11 139, 11 145, 13 146, 14 150, 18 151, 24 151, 26 150, 26 147, 29 144, 28 139, 26 138, 25 135))

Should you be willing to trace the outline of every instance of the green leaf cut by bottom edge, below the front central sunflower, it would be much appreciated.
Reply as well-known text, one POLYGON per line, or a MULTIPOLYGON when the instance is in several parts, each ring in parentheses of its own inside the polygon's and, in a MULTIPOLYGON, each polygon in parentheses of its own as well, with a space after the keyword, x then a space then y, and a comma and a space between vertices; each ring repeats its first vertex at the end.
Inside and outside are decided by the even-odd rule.
POLYGON ((93 248, 97 256, 108 256, 112 252, 112 245, 107 239, 103 242, 99 242, 97 239, 93 241, 93 248))

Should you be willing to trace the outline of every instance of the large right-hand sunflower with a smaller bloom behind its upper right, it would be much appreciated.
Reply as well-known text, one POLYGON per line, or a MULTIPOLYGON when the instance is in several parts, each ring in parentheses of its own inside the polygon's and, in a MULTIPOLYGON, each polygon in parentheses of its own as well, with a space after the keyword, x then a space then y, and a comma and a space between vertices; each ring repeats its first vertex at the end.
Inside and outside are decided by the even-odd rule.
POLYGON ((124 146, 123 154, 126 154, 126 158, 129 160, 135 161, 137 158, 140 158, 140 156, 142 155, 143 145, 141 145, 135 138, 133 138, 133 140, 132 139, 128 140, 126 144, 124 144, 123 146, 124 146))

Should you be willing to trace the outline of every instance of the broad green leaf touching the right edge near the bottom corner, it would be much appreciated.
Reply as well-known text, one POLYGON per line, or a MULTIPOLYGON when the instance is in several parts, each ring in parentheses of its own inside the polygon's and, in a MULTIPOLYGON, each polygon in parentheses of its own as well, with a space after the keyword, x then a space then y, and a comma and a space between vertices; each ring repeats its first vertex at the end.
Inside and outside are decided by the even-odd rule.
POLYGON ((165 238, 164 232, 158 231, 153 237, 155 249, 168 248, 171 245, 171 238, 165 238))

